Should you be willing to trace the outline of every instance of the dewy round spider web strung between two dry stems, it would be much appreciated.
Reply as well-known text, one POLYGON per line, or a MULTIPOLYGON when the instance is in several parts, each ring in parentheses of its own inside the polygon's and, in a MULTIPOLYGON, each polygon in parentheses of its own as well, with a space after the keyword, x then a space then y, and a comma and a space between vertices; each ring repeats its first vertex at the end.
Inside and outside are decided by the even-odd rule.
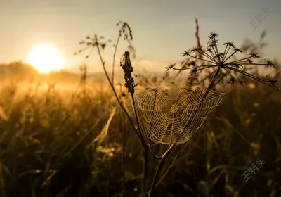
POLYGON ((155 88, 137 87, 136 113, 143 139, 150 145, 185 143, 229 91, 221 90, 181 76, 168 77, 155 88))

